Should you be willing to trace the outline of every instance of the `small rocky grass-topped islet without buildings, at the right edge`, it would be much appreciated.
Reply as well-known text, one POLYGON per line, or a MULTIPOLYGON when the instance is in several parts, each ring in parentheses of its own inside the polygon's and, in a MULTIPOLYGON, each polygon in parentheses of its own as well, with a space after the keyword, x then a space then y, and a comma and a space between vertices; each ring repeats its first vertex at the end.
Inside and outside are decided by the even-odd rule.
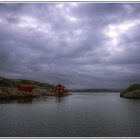
POLYGON ((134 84, 120 93, 120 97, 140 99, 140 84, 134 84))

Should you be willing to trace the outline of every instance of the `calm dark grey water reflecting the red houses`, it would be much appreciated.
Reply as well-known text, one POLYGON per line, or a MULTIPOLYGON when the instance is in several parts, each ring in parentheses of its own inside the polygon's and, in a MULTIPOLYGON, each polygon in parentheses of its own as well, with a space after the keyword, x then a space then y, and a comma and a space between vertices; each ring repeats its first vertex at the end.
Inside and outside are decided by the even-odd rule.
POLYGON ((140 137, 140 100, 73 93, 0 101, 1 137, 140 137))

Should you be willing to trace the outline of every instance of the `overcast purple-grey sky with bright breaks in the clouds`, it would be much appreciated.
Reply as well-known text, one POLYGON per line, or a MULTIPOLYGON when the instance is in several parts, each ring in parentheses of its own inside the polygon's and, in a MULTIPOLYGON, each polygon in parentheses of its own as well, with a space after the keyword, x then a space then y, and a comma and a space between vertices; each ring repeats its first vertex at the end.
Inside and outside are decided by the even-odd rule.
POLYGON ((0 76, 68 89, 140 83, 140 3, 0 3, 0 76))

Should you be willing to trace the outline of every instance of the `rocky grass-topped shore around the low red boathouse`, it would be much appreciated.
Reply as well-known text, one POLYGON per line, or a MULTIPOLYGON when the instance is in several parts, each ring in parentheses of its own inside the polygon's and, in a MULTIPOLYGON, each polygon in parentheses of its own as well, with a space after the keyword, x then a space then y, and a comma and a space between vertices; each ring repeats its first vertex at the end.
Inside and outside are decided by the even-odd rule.
POLYGON ((24 79, 6 79, 4 77, 0 77, 0 97, 49 95, 52 93, 54 88, 54 85, 48 83, 40 83, 38 81, 24 79), (21 84, 31 84, 33 87, 32 95, 31 93, 18 91, 18 86, 21 84))

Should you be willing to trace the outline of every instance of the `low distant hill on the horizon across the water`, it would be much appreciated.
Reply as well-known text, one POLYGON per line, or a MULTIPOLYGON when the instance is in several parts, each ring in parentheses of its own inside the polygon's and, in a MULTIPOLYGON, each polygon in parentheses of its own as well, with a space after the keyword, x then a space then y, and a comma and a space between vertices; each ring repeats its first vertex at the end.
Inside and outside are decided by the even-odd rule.
POLYGON ((71 90, 72 92, 119 92, 110 89, 78 89, 78 90, 71 90))

